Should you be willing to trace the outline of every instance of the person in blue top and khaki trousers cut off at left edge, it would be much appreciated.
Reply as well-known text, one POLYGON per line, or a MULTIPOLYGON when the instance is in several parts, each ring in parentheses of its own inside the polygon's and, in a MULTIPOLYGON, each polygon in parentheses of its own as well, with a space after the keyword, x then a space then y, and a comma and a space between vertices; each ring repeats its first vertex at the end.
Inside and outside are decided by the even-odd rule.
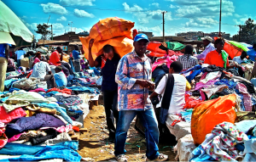
POLYGON ((8 64, 7 59, 9 59, 9 45, 0 44, 0 92, 4 90, 5 74, 8 64))

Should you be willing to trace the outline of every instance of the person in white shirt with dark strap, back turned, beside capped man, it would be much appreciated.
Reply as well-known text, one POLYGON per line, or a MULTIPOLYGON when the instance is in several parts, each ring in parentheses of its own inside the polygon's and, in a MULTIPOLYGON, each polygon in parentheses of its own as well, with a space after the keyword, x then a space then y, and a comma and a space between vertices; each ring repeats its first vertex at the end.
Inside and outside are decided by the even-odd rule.
MULTIPOLYGON (((182 111, 184 105, 185 105, 185 92, 186 92, 186 82, 187 79, 180 75, 179 73, 183 70, 183 64, 181 64, 179 61, 174 61, 170 65, 169 73, 173 75, 174 78, 174 86, 172 90, 172 98, 170 101, 170 106, 168 109, 168 114, 176 115, 180 111, 182 111)), ((164 75, 163 78, 160 80, 159 85, 156 87, 154 92, 150 95, 150 98, 154 98, 157 95, 161 95, 163 98, 166 90, 166 77, 168 75, 164 75)), ((159 108, 161 105, 160 103, 156 105, 157 108, 159 108)))

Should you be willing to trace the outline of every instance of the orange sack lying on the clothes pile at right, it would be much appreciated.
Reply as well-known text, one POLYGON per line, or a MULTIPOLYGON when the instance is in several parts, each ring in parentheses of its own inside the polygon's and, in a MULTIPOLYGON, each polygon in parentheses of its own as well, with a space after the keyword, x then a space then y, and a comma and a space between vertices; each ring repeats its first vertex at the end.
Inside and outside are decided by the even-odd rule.
POLYGON ((195 144, 204 142, 214 126, 236 120, 236 94, 230 94, 206 102, 198 103, 191 117, 191 134, 195 144))

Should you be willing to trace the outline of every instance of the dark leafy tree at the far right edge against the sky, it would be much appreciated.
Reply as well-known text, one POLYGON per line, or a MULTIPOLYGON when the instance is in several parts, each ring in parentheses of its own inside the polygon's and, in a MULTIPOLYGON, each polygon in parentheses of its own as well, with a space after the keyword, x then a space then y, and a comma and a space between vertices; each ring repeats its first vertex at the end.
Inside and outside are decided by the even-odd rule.
POLYGON ((233 40, 236 42, 247 42, 248 44, 253 44, 256 42, 256 25, 253 23, 254 20, 249 18, 245 25, 238 25, 241 31, 233 36, 233 40))

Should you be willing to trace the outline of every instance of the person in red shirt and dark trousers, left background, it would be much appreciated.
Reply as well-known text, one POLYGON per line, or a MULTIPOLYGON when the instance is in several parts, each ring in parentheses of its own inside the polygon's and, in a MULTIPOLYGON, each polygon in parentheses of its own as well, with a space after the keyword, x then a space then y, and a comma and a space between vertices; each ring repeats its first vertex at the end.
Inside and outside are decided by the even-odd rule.
POLYGON ((57 47, 56 51, 51 53, 49 57, 49 63, 54 64, 55 66, 61 66, 64 74, 66 76, 73 75, 73 70, 71 70, 70 65, 66 62, 62 62, 63 59, 63 53, 61 47, 57 47), (61 57, 60 57, 61 53, 61 57))

